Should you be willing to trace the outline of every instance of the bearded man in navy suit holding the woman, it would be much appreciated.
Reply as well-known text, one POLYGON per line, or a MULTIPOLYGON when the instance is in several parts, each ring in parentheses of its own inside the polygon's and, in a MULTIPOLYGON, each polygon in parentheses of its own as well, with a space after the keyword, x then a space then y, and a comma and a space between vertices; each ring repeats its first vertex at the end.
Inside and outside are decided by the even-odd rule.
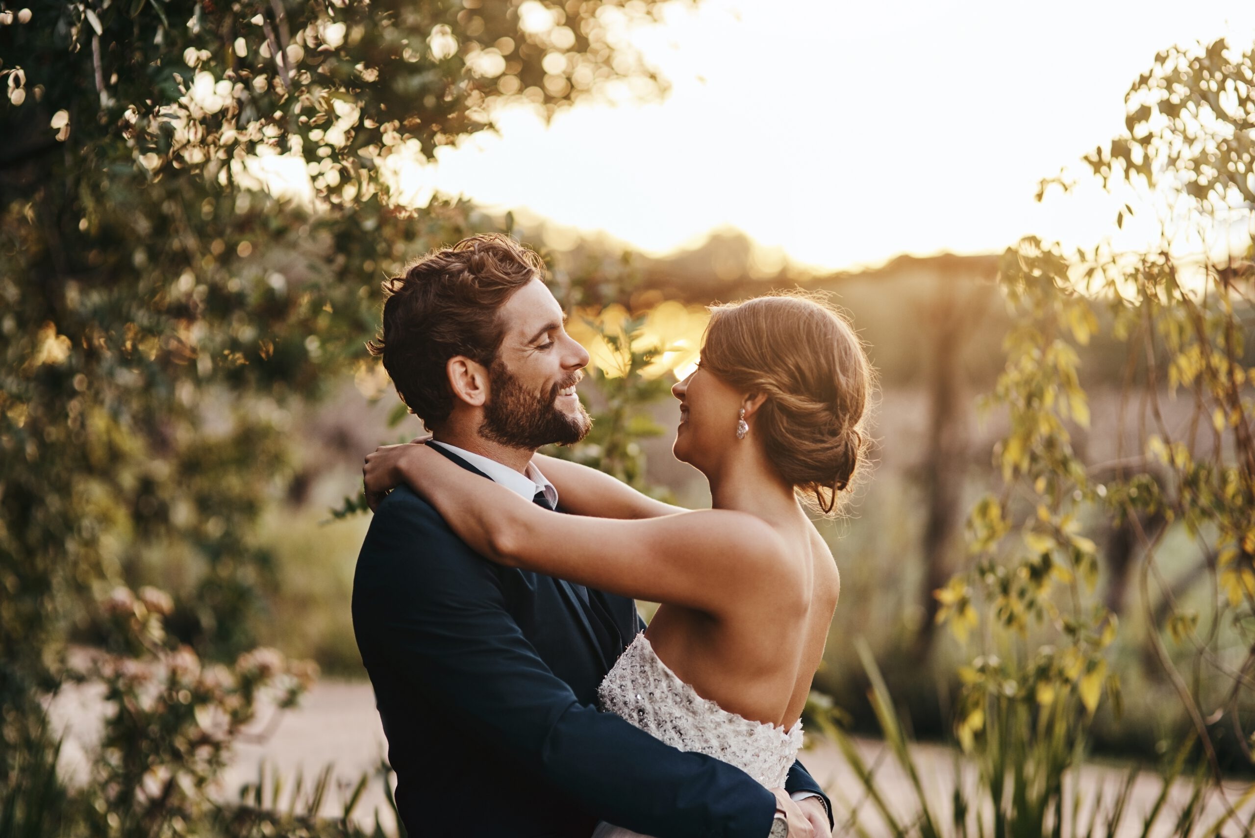
MULTIPOLYGON (((502 236, 429 253, 387 284, 370 349, 433 448, 556 508, 531 460, 587 433, 574 393, 589 354, 542 275, 502 236)), ((630 600, 488 562, 405 487, 378 503, 353 622, 413 835, 587 837, 599 819, 659 838, 831 832, 799 764, 798 802, 778 803, 739 769, 595 709, 644 627, 630 600)))

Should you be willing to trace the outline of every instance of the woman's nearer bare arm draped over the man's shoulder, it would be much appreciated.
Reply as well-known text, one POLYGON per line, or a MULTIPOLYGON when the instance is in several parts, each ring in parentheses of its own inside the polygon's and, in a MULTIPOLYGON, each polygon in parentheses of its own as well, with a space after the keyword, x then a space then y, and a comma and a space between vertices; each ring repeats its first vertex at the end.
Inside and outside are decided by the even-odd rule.
POLYGON ((550 512, 425 445, 376 449, 363 475, 368 494, 404 480, 462 541, 499 565, 708 613, 738 607, 747 591, 804 608, 801 563, 769 524, 747 513, 616 521, 550 512))

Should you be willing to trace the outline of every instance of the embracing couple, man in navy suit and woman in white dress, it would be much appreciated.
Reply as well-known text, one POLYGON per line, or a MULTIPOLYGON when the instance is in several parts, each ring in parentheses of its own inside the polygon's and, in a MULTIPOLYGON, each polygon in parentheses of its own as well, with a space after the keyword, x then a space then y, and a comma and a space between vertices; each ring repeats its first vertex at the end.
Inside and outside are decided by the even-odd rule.
POLYGON ((543 270, 474 236, 385 284, 370 349, 433 435, 366 458, 353 625, 405 829, 830 834, 797 751, 841 581, 807 508, 865 453, 861 342, 801 295, 713 306, 671 388, 689 511, 536 453, 591 425, 543 270))

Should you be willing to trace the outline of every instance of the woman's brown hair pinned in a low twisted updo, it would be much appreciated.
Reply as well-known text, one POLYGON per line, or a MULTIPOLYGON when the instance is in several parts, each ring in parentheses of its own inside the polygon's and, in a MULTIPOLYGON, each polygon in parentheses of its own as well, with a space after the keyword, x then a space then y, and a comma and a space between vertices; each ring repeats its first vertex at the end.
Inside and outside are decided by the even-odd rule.
POLYGON ((766 401, 753 419, 781 477, 825 516, 863 470, 875 370, 826 295, 787 291, 710 306, 702 368, 766 401))

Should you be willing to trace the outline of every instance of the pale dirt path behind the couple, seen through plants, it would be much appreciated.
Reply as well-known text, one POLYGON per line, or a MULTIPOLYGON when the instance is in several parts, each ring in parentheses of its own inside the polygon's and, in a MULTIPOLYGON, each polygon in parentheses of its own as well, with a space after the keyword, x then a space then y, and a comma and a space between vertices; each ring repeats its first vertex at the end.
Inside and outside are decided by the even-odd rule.
MULTIPOLYGON (((63 769, 75 777, 82 775, 84 761, 83 748, 98 735, 99 731, 99 694, 82 690, 65 694, 54 705, 54 718, 68 726, 69 743, 64 754, 63 769)), ((866 760, 867 765, 875 766, 877 789, 902 823, 909 823, 911 813, 916 810, 912 802, 916 799, 912 784, 906 774, 897 766, 892 756, 886 753, 884 744, 872 739, 857 739, 856 745, 866 760)), ((286 803, 290 789, 297 772, 304 772, 306 784, 325 765, 334 765, 336 783, 324 802, 323 813, 336 815, 343 807, 344 797, 351 792, 363 772, 374 772, 385 754, 383 729, 379 724, 379 715, 375 713, 374 695, 370 686, 363 682, 338 682, 323 681, 301 700, 301 706, 290 710, 279 720, 274 733, 265 743, 243 743, 237 750, 235 759, 223 775, 218 794, 223 800, 236 800, 240 788, 247 783, 255 783, 266 766, 267 777, 279 775, 285 778, 285 788, 281 795, 286 803)), ((951 823, 951 794, 955 783, 954 751, 937 745, 916 745, 912 750, 916 772, 921 778, 925 792, 935 807, 935 814, 941 834, 954 834, 951 823)), ((814 775, 826 790, 833 797, 838 818, 837 835, 852 835, 853 830, 847 823, 846 813, 852 807, 857 807, 858 818, 862 827, 871 835, 887 835, 891 832, 886 828, 884 819, 875 810, 870 800, 861 793, 861 784, 852 769, 842 758, 840 751, 830 743, 820 741, 802 755, 809 772, 814 775)), ((1087 800, 1081 808, 1079 824, 1083 827, 1089 822, 1093 802, 1102 790, 1103 799, 1111 802, 1119 789, 1127 766, 1087 764, 1081 770, 1082 795, 1087 800)), ((971 788, 975 783, 973 766, 960 768, 965 788, 971 788)), ((1071 785, 1068 790, 1071 792, 1071 785)), ((1249 788, 1246 783, 1226 783, 1225 790, 1231 802, 1236 802, 1242 792, 1249 788)), ((1137 838, 1141 835, 1141 822, 1155 802, 1160 790, 1158 778, 1153 774, 1142 774, 1135 783, 1128 803, 1128 812, 1122 822, 1122 828, 1117 833, 1119 838, 1137 838)), ((1069 794, 1071 797, 1071 794, 1069 794)), ((1183 784, 1173 787, 1168 803, 1161 814, 1153 835, 1171 835, 1177 814, 1190 798, 1188 788, 1183 784)), ((1071 819, 1071 805, 1064 805, 1064 822, 1071 819)), ((1106 808, 1106 805, 1104 805, 1106 808)), ((355 817, 363 823, 373 824, 375 813, 389 833, 393 829, 392 812, 384 797, 383 785, 378 779, 373 780, 355 809, 355 817)), ((1201 823, 1210 824, 1211 820, 1224 812, 1222 803, 1215 795, 1209 802, 1206 814, 1201 823)), ((1255 805, 1244 807, 1244 815, 1251 817, 1255 805)), ((1106 834, 1104 820, 1099 819, 1094 829, 1096 834, 1106 834)), ((1196 834, 1201 834, 1201 829, 1196 834)), ((1069 834, 1068 830, 1064 834, 1069 834)), ((1225 829, 1221 835, 1230 837, 1241 834, 1240 829, 1225 829)))

